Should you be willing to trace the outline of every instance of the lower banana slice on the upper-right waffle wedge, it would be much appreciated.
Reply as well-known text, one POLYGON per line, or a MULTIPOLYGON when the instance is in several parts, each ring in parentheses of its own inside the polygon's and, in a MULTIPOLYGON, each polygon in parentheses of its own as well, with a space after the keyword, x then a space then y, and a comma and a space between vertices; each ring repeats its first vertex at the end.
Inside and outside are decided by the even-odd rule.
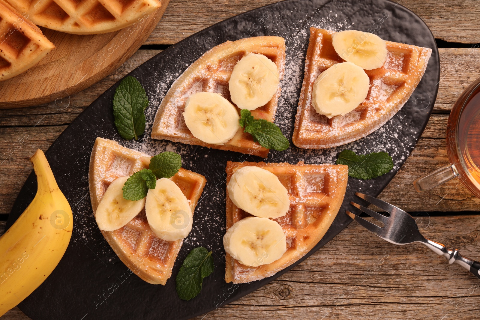
POLYGON ((351 62, 336 63, 313 83, 312 105, 328 119, 358 107, 368 95, 370 79, 351 62))

